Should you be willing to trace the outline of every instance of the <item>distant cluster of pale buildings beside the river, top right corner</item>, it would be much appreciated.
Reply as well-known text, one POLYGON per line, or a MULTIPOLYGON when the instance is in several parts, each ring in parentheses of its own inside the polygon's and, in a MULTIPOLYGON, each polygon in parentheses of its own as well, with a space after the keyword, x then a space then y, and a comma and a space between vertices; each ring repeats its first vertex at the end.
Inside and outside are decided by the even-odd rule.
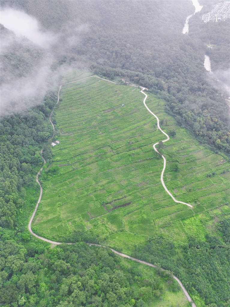
POLYGON ((204 22, 208 21, 225 21, 230 18, 230 2, 224 1, 216 4, 211 12, 203 14, 202 20, 204 22))

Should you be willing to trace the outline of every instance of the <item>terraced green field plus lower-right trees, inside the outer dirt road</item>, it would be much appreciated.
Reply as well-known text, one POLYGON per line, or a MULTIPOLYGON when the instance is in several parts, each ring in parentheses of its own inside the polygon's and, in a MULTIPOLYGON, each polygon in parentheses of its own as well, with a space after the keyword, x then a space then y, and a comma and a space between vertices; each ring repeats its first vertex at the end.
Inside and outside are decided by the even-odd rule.
POLYGON ((165 113, 164 102, 148 94, 148 107, 167 125, 162 128, 176 133, 161 146, 164 181, 193 208, 175 204, 162 188, 163 163, 152 149, 164 137, 138 89, 90 78, 66 85, 61 97, 52 167, 59 173, 51 177, 48 167, 41 175, 44 197, 33 230, 65 242, 103 242, 158 262, 181 279, 198 307, 227 307, 229 247, 217 238, 226 238, 223 221, 230 217, 227 157, 197 144, 165 113))

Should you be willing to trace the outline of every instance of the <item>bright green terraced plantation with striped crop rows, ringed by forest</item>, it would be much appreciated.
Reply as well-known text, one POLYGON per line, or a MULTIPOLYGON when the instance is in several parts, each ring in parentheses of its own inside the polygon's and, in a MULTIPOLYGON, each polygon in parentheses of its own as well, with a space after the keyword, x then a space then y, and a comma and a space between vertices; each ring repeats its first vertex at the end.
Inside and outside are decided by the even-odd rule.
MULTIPOLYGON (((66 82, 77 79, 68 76, 66 82)), ((149 93, 146 100, 162 129, 176 132, 161 149, 164 181, 177 200, 193 208, 176 204, 161 184, 163 159, 153 144, 165 136, 138 88, 92 77, 65 85, 60 97, 60 144, 42 179, 32 227, 37 234, 57 241, 73 229, 92 231, 101 242, 127 251, 156 232, 178 243, 188 233, 203 237, 215 212, 230 216, 226 157, 199 146, 164 112, 164 101, 149 93)))

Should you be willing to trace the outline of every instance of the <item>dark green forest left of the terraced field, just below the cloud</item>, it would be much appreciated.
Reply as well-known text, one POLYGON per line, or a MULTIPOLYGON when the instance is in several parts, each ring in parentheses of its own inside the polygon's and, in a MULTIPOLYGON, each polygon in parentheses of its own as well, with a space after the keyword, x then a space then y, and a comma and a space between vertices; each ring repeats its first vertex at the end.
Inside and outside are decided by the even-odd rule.
MULTIPOLYGON (((34 184, 37 167, 43 164, 41 147, 53 135, 50 112, 57 93, 46 95, 41 105, 0 120, 0 227, 12 228, 23 205, 24 187, 34 184)), ((52 160, 50 145, 43 156, 52 160)))

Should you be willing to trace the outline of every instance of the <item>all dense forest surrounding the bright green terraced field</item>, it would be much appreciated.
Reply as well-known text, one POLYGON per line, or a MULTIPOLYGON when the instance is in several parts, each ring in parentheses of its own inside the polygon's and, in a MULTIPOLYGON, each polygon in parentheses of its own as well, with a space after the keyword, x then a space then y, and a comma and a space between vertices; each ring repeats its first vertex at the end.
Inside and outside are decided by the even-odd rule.
MULTIPOLYGON (((181 34, 194 11, 191 1, 181 6, 179 1, 2 0, 5 5, 25 10, 44 29, 60 34, 49 50, 55 59, 53 72, 77 62, 110 80, 147 87, 165 99, 166 111, 199 142, 230 156, 229 105, 209 84, 203 67, 206 53, 213 69, 229 68, 228 22, 205 25, 195 15, 189 35, 181 34)), ((1 33, 14 36, 4 27, 1 33)), ((25 38, 13 40, 1 54, 3 83, 26 77, 47 52, 25 38)), ((141 307, 162 296, 163 281, 176 292, 170 274, 160 277, 158 270, 157 276, 145 278, 137 265, 128 266, 110 251, 84 243, 50 249, 32 242, 26 221, 39 194, 35 176, 43 164, 41 148, 47 163, 52 162, 49 115, 56 102, 57 88, 36 107, 1 117, 0 305, 141 307)), ((133 256, 173 271, 206 306, 228 307, 230 221, 221 220, 217 228, 218 236, 206 236, 205 241, 191 237, 180 247, 182 258, 175 243, 163 236, 149 238, 133 256)), ((89 239, 97 242, 74 234, 76 242, 89 239)))

